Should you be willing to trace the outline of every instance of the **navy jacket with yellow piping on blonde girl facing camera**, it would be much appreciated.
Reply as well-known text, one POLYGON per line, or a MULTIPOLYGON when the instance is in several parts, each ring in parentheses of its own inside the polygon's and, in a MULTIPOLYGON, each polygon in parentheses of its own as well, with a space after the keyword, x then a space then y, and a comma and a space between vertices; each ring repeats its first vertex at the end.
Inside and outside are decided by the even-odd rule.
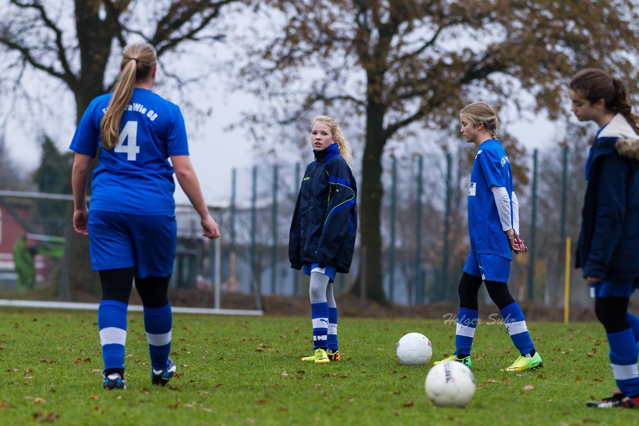
POLYGON ((357 185, 337 144, 314 151, 295 204, 288 257, 291 268, 317 263, 348 273, 357 235, 357 185))

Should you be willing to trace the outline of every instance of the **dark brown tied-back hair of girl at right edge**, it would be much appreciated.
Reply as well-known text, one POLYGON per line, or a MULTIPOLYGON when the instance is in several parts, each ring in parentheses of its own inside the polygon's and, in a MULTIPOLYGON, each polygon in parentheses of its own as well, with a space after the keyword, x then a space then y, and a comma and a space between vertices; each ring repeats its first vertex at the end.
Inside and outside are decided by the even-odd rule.
POLYGON ((626 85, 617 77, 597 68, 587 68, 576 73, 568 87, 590 103, 603 99, 606 109, 624 116, 639 135, 639 117, 632 112, 626 85))

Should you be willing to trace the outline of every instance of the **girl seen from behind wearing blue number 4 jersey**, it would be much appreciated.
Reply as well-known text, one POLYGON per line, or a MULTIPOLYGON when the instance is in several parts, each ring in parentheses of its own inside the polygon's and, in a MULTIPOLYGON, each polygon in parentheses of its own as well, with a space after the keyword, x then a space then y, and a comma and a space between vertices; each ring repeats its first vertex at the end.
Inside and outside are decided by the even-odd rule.
POLYGON ((109 390, 126 388, 127 305, 134 279, 144 305, 151 381, 164 386, 176 371, 169 358, 172 318, 167 294, 176 250, 173 172, 201 217, 204 236, 220 235, 189 160, 180 108, 151 91, 156 72, 151 45, 125 47, 113 93, 91 102, 70 146, 75 151, 73 227, 89 236, 91 269, 100 274, 102 386, 109 390), (98 147, 88 209, 89 163, 98 147))

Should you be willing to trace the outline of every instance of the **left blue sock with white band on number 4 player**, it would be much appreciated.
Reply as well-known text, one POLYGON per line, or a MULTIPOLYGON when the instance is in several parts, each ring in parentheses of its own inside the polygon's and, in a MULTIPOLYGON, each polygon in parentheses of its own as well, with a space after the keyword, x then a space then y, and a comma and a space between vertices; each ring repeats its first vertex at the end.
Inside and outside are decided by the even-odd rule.
POLYGON ((127 303, 103 300, 98 307, 98 330, 104 369, 124 369, 127 342, 127 303))

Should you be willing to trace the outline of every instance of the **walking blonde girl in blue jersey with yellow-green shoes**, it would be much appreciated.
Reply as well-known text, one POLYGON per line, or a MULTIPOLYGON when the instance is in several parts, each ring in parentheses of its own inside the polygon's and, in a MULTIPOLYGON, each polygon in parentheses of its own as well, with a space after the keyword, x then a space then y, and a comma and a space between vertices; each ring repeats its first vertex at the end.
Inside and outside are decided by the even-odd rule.
POLYGON ((542 367, 541 358, 530 339, 526 320, 508 291, 511 252, 526 252, 519 236, 519 208, 512 188, 508 156, 497 136, 497 115, 484 102, 467 105, 460 111, 461 133, 477 146, 477 155, 468 188, 468 232, 470 254, 459 282, 459 313, 455 336, 456 351, 442 361, 472 365, 470 349, 479 321, 477 292, 482 282, 499 308, 504 325, 519 358, 505 371, 542 367))

